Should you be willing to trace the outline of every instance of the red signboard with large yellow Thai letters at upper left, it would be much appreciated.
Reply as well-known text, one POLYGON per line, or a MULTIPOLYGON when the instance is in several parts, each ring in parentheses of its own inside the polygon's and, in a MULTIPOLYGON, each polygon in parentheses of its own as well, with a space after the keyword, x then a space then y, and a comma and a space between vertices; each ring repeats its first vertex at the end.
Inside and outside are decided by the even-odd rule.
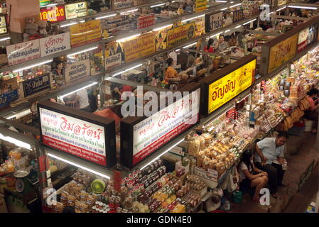
POLYGON ((48 6, 40 8, 41 21, 59 22, 65 21, 64 6, 48 6))

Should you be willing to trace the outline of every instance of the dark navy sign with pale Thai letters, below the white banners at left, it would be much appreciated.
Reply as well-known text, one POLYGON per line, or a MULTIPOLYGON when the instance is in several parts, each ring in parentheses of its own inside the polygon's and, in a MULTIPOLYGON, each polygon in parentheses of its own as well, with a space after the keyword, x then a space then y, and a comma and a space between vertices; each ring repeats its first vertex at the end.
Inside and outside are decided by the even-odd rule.
POLYGON ((50 88, 50 74, 43 74, 32 79, 23 81, 24 96, 31 96, 36 92, 50 88))

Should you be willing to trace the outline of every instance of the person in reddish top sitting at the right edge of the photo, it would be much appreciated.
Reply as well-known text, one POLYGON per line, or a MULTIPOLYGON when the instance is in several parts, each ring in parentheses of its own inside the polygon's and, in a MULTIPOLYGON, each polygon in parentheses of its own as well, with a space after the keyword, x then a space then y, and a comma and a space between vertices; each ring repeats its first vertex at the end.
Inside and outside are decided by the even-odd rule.
POLYGON ((316 110, 318 109, 319 104, 315 105, 315 103, 319 101, 318 94, 319 94, 319 91, 318 89, 315 89, 315 88, 310 89, 310 91, 307 93, 309 109, 306 110, 305 115, 303 115, 303 118, 306 118, 310 121, 315 121, 315 123, 313 123, 313 130, 311 131, 311 133, 317 132, 315 128, 317 128, 317 124, 318 124, 318 112, 316 110))

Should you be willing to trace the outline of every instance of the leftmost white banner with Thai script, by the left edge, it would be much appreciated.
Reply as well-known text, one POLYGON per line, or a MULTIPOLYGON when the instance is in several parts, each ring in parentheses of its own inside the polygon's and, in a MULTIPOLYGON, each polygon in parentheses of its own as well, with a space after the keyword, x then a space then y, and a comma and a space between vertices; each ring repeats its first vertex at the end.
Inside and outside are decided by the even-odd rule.
POLYGON ((41 57, 39 40, 9 45, 6 47, 9 65, 28 62, 41 57))

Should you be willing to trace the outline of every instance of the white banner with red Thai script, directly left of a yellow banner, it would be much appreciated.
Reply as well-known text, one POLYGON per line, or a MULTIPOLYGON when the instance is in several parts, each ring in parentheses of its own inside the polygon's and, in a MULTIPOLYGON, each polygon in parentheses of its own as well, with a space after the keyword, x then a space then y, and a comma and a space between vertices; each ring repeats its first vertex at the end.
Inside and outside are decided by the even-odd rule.
POLYGON ((70 49, 70 33, 53 35, 40 39, 41 57, 53 55, 57 52, 70 49))

